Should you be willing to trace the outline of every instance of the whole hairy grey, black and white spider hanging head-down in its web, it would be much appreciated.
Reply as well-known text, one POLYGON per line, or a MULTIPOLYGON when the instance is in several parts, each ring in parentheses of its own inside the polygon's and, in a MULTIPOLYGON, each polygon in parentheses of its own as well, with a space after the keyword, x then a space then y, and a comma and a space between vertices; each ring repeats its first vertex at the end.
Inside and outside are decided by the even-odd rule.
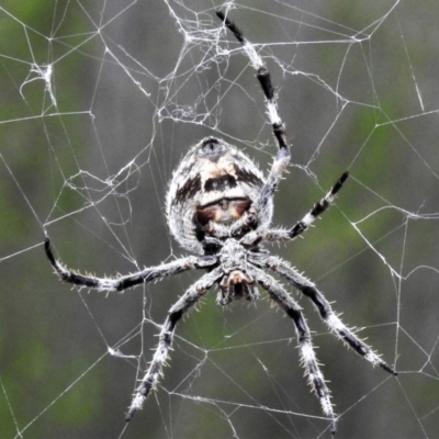
POLYGON ((216 14, 249 57, 266 98, 267 114, 278 146, 268 176, 264 177, 257 165, 235 146, 219 138, 206 137, 190 148, 173 172, 166 199, 166 213, 173 237, 183 248, 196 256, 188 256, 117 278, 83 275, 66 268, 55 259, 47 236, 46 256, 64 282, 98 291, 124 291, 188 270, 205 271, 170 307, 153 361, 133 396, 125 417, 127 421, 142 408, 151 389, 157 386, 172 344, 176 325, 182 316, 214 285, 217 288, 217 303, 227 305, 237 299, 255 301, 258 297, 256 285, 259 284, 293 320, 301 360, 309 385, 320 402, 323 413, 330 419, 330 430, 335 434, 337 416, 302 309, 266 270, 269 269, 285 279, 308 297, 330 331, 348 347, 373 365, 380 365, 393 375, 396 375, 396 372, 340 320, 313 282, 286 261, 271 256, 261 244, 291 241, 303 234, 331 204, 348 178, 348 172, 342 173, 329 192, 293 227, 270 227, 274 190, 290 161, 285 125, 279 115, 274 87, 261 57, 235 23, 221 11, 216 14))

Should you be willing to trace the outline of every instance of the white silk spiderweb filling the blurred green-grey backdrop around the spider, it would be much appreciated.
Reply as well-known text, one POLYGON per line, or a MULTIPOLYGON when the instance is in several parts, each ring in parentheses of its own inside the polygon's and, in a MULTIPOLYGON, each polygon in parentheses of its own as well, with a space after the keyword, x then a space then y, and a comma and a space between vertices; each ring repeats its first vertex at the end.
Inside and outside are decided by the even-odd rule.
POLYGON ((270 69, 293 145, 273 223, 351 173, 316 228, 271 249, 399 372, 348 351, 299 297, 338 437, 439 435, 438 5, 168 0, 0 5, 0 437, 330 436, 292 323, 267 300, 223 309, 213 293, 126 425, 159 326, 200 273, 105 295, 70 291, 44 257, 44 230, 66 264, 100 275, 181 256, 164 198, 204 136, 268 168, 262 92, 219 8, 270 69))

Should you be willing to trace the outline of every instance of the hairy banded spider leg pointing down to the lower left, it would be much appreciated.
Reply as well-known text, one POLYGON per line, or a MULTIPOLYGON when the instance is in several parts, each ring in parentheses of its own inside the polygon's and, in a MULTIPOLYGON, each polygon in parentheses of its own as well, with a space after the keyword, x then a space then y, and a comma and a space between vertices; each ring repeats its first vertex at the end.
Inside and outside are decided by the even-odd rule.
POLYGON ((177 323, 192 306, 198 303, 198 301, 222 275, 224 275, 224 272, 221 267, 217 267, 211 272, 204 274, 194 284, 192 284, 178 300, 178 302, 169 309, 168 317, 161 327, 159 342, 153 357, 153 361, 149 364, 140 385, 136 390, 128 413, 125 417, 126 421, 130 421, 134 414, 142 408, 142 405, 147 398, 150 390, 157 385, 161 374, 161 369, 168 358, 168 351, 172 344, 173 330, 177 323))

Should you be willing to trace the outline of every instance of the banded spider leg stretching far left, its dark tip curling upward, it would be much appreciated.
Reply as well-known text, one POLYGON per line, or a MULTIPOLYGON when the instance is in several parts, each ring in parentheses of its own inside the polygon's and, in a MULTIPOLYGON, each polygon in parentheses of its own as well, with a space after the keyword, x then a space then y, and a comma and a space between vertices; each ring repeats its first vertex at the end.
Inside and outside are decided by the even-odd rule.
POLYGON ((217 261, 215 256, 189 256, 172 262, 162 263, 158 267, 145 268, 136 273, 122 275, 120 278, 95 278, 93 275, 83 275, 75 272, 60 263, 54 256, 48 237, 46 237, 44 241, 44 248, 52 267, 55 269, 55 272, 59 275, 61 281, 98 291, 123 291, 140 283, 159 280, 167 275, 212 267, 217 261))

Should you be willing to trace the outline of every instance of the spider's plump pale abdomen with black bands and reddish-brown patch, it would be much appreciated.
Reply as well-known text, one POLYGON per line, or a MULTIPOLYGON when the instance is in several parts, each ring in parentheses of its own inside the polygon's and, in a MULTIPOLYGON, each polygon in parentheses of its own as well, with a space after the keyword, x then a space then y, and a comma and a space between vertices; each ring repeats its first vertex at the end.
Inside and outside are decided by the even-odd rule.
MULTIPOLYGON (((230 226, 250 209, 264 182, 241 150, 205 137, 190 148, 173 173, 166 206, 172 235, 182 247, 202 254, 209 223, 230 226)), ((271 214, 270 202, 260 224, 268 225, 271 214)))

